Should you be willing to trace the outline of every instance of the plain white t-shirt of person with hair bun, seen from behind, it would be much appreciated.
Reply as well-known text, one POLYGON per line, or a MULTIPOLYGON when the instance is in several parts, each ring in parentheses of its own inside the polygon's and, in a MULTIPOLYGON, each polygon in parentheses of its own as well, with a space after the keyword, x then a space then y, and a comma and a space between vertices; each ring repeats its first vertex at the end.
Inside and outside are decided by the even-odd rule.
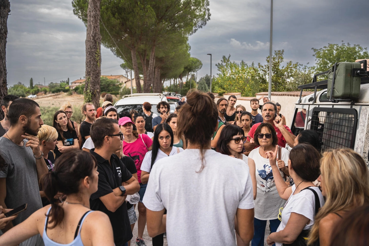
POLYGON ((168 245, 236 245, 237 208, 254 208, 248 165, 214 150, 199 149, 159 160, 153 166, 144 204, 166 208, 168 245))

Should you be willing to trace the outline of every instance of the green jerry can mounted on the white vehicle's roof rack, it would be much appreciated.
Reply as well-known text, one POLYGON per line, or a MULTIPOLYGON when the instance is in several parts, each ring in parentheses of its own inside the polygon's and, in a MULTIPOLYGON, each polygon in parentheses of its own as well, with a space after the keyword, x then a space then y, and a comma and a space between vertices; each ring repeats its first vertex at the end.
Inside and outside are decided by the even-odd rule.
POLYGON ((359 98, 360 76, 352 76, 353 68, 361 68, 359 62, 338 62, 334 75, 334 66, 328 74, 327 97, 331 96, 332 79, 334 79, 332 98, 359 98))

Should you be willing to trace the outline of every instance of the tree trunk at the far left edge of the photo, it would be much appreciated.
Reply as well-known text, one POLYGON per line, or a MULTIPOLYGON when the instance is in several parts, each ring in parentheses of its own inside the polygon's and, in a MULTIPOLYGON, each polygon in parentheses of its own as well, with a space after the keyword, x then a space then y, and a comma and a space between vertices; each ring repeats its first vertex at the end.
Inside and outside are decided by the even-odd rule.
MULTIPOLYGON (((8 37, 8 15, 10 12, 10 2, 8 0, 0 1, 0 101, 3 96, 8 95, 6 81, 6 39, 8 37)), ((3 110, 0 110, 0 120, 3 119, 3 110)))

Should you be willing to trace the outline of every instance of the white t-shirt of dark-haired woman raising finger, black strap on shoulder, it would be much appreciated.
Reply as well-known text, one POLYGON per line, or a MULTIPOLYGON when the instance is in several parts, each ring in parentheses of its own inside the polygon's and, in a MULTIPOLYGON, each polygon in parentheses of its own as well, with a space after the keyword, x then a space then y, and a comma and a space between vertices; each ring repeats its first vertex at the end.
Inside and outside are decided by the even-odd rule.
MULTIPOLYGON (((310 188, 314 189, 314 191, 317 192, 320 201, 320 207, 322 207, 325 203, 322 192, 318 187, 310 187, 310 188)), ((292 185, 292 194, 295 191, 295 189, 296 185, 292 185)), ((290 219, 291 213, 298 213, 310 219, 310 222, 307 225, 305 225, 303 230, 310 230, 311 227, 313 227, 314 225, 314 217, 315 217, 314 193, 308 189, 305 189, 297 194, 294 195, 292 194, 290 195, 287 204, 283 208, 282 222, 280 222, 277 228, 277 232, 283 230, 286 227, 287 222, 290 219)), ((282 243, 276 242, 276 246, 282 246, 282 243)))

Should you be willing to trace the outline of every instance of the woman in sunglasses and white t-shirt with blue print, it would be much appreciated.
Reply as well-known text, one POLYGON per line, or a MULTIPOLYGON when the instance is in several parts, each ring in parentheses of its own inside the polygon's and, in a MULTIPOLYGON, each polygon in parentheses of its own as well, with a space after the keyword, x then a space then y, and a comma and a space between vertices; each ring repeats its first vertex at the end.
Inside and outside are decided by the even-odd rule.
MULTIPOLYGON (((269 123, 261 123, 256 128, 254 140, 258 148, 252 150, 249 158, 255 161, 257 196, 255 199, 255 218, 254 218, 254 238, 251 240, 252 246, 263 246, 266 221, 270 222, 270 232, 276 232, 280 221, 278 220, 277 210, 284 205, 284 200, 279 197, 275 187, 274 176, 283 177, 283 172, 273 173, 270 167, 268 151, 275 151, 278 147, 277 133, 274 127, 269 123)), ((289 152, 285 148, 279 148, 277 157, 283 160, 287 165, 289 152)))

